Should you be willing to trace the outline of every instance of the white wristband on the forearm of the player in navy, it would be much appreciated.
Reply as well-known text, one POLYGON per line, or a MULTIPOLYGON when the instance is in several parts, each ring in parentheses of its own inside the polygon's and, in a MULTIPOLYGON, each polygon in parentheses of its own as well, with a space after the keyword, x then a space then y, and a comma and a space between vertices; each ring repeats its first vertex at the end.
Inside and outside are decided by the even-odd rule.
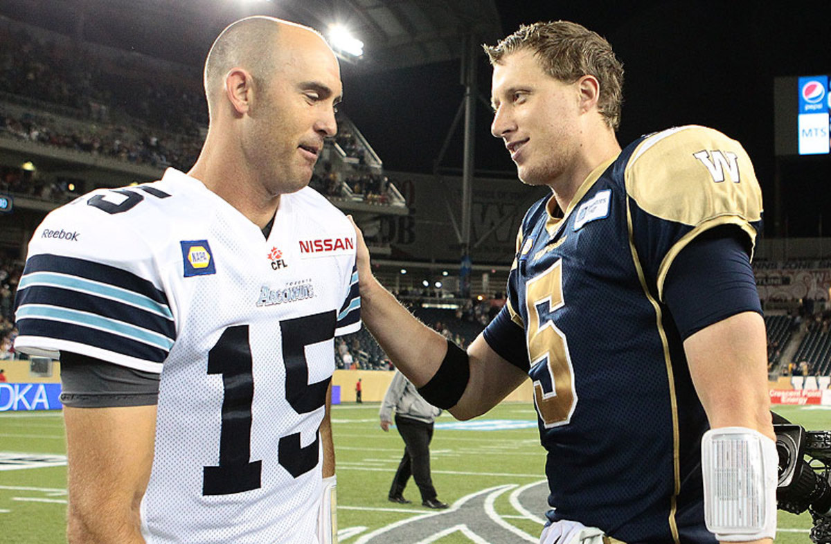
POLYGON ((711 429, 701 439, 704 519, 722 542, 776 535, 776 443, 755 429, 711 429))

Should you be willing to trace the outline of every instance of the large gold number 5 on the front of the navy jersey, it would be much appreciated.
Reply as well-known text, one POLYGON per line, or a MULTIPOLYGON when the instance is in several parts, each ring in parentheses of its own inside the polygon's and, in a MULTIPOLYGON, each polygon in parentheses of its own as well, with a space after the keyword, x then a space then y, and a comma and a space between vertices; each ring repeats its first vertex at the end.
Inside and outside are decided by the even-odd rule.
POLYGON ((528 310, 526 335, 534 380, 534 405, 545 428, 550 429, 568 424, 577 405, 568 342, 553 321, 554 312, 565 306, 562 259, 525 284, 525 304, 528 310), (543 362, 545 365, 542 365, 543 362), (540 367, 535 368, 538 365, 540 367), (543 372, 547 372, 548 380, 539 379, 543 372))

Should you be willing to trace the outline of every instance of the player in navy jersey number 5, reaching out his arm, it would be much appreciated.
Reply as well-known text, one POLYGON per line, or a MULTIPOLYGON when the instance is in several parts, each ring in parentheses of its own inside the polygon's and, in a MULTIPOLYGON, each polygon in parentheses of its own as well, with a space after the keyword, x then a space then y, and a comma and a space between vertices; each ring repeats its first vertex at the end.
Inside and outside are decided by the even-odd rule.
POLYGON ((551 509, 543 544, 770 542, 777 454, 750 260, 745 150, 682 126, 621 149, 622 65, 572 22, 494 47, 494 120, 525 184, 508 302, 461 350, 371 276, 362 321, 431 404, 484 414, 532 380, 551 509))

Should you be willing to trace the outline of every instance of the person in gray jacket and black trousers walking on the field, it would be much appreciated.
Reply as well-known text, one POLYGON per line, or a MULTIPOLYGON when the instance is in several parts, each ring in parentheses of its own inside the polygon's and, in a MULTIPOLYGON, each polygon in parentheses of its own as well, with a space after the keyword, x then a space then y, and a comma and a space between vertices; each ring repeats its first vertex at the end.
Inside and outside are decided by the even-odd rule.
POLYGON ((428 403, 418 394, 410 380, 396 370, 389 389, 381 403, 381 429, 388 431, 392 424, 392 409, 396 409, 396 429, 404 439, 404 457, 398 464, 396 477, 392 478, 390 502, 409 504, 404 498, 404 488, 412 475, 421 492, 421 505, 428 508, 446 508, 441 502, 430 478, 430 440, 433 439, 433 422, 441 409, 428 403))

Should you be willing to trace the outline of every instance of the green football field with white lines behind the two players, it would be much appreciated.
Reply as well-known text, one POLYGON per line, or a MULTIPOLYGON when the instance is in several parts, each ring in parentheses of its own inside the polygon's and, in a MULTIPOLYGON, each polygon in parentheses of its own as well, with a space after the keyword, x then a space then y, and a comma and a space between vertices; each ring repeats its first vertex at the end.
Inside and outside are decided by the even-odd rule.
MULTIPOLYGON (((337 517, 347 544, 510 544, 538 542, 545 510, 543 449, 534 409, 503 404, 474 421, 444 414, 431 446, 433 480, 445 511, 387 502, 403 452, 392 429, 378 427, 377 404, 332 412, 337 452, 337 517)), ((821 407, 780 407, 806 429, 831 427, 821 407), (812 409, 813 408, 813 409, 812 409)), ((0 413, 0 542, 65 542, 66 459, 60 412, 0 413)), ((648 470, 648 468, 645 468, 648 470)), ((776 542, 809 542, 810 517, 779 512, 776 542)))

